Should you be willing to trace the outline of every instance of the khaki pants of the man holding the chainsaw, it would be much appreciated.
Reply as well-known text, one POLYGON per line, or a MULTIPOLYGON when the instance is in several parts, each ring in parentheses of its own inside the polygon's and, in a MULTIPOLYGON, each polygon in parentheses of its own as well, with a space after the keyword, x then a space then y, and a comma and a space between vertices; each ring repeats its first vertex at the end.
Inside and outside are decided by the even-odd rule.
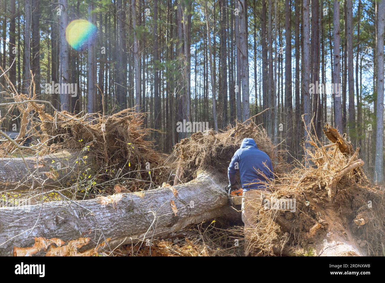
POLYGON ((245 255, 250 255, 253 251, 248 236, 248 228, 255 228, 257 223, 256 206, 262 205, 263 198, 270 198, 270 190, 248 190, 244 191, 242 196, 242 221, 244 223, 245 236, 245 255))

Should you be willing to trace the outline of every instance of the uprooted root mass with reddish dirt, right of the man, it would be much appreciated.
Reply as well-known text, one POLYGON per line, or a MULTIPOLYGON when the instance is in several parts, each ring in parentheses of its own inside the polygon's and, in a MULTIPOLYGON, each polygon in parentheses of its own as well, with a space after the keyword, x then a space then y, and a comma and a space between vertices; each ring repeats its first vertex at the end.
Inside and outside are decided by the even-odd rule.
MULTIPOLYGON (((325 125, 324 132, 333 130, 325 125)), ((326 145, 309 134, 311 147, 304 150, 313 165, 276 178, 271 196, 253 204, 257 221, 244 231, 251 239, 246 249, 256 255, 309 256, 342 241, 362 255, 384 255, 383 190, 363 173, 358 149, 334 133, 338 137, 326 145)))

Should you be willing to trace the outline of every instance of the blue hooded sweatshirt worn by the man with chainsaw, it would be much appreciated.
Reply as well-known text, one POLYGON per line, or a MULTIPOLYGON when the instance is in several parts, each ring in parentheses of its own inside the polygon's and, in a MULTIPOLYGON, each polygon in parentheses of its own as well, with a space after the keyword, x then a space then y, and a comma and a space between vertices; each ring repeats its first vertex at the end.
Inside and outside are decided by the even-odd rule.
POLYGON ((265 183, 269 183, 268 179, 274 179, 269 156, 258 149, 252 138, 244 138, 241 147, 231 158, 227 170, 231 185, 236 183, 235 174, 238 169, 243 191, 264 189, 266 188, 265 183), (248 185, 249 183, 254 184, 248 185))

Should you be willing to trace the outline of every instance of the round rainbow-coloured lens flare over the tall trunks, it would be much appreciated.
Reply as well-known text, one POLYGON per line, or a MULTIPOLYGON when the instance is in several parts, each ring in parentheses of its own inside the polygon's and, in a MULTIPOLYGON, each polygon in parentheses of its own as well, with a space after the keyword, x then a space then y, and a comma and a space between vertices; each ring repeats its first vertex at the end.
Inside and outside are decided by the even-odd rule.
POLYGON ((65 29, 65 38, 72 48, 80 51, 93 42, 96 31, 97 28, 87 20, 73 20, 65 29))

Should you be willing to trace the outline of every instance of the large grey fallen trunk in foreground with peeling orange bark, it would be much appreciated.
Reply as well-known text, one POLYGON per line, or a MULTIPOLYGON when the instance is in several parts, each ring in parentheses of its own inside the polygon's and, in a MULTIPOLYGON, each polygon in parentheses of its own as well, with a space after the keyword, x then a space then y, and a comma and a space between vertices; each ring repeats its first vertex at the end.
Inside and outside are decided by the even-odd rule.
POLYGON ((93 255, 167 236, 233 214, 223 186, 201 173, 186 184, 139 193, 0 208, 0 256, 93 255))

